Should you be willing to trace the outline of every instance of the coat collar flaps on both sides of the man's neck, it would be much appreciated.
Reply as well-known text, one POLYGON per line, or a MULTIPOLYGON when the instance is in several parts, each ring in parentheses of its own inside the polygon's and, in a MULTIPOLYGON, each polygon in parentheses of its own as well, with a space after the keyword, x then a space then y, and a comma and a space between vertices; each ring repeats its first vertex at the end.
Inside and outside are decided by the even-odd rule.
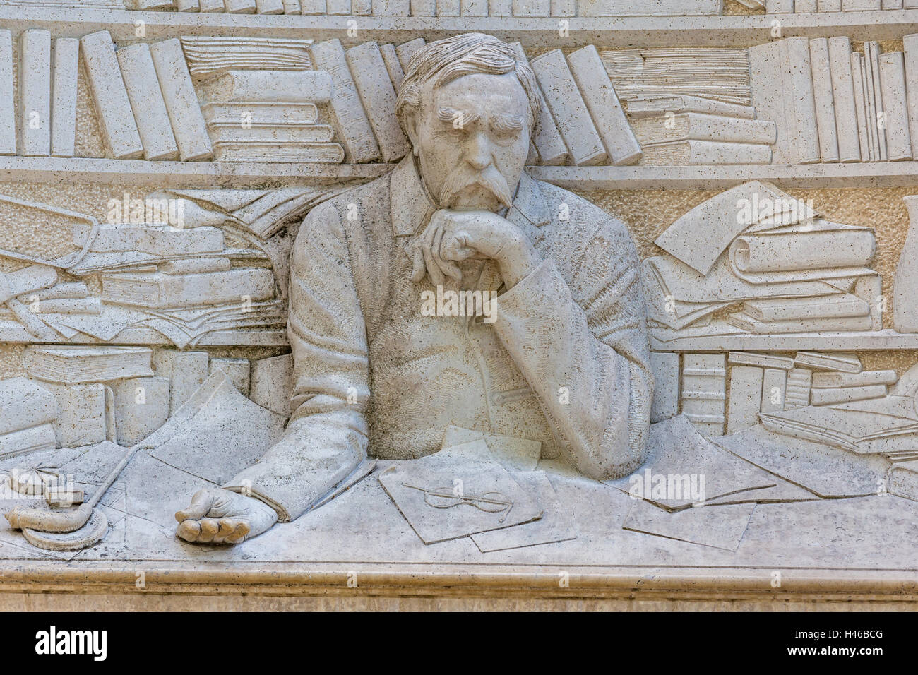
MULTIPOLYGON (((420 179, 414 157, 409 153, 392 172, 389 183, 392 230, 397 237, 415 234, 433 215, 434 207, 420 179)), ((538 183, 525 171, 520 176, 516 197, 507 213, 515 225, 531 223, 541 227, 549 221, 548 206, 538 183)))

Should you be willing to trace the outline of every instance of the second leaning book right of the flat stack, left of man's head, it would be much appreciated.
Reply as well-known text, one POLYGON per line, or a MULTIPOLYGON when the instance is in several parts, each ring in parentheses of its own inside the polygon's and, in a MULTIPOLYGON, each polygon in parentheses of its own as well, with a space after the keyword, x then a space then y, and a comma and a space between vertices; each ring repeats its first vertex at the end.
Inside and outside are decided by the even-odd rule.
POLYGON ((345 52, 351 69, 354 85, 370 118, 383 162, 395 162, 409 152, 405 138, 396 118, 396 93, 392 81, 386 76, 386 63, 375 42, 352 47, 345 52))

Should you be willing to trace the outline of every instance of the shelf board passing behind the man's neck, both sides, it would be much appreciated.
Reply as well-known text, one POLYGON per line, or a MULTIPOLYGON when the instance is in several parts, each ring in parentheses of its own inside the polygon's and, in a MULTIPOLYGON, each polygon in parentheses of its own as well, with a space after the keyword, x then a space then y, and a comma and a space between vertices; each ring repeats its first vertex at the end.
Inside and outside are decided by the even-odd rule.
MULTIPOLYGON (((369 180, 394 164, 146 162, 86 157, 0 157, 0 181, 162 187, 272 187, 369 180)), ((761 166, 531 166, 530 174, 573 190, 721 190, 749 180, 784 187, 918 187, 918 162, 761 166)))

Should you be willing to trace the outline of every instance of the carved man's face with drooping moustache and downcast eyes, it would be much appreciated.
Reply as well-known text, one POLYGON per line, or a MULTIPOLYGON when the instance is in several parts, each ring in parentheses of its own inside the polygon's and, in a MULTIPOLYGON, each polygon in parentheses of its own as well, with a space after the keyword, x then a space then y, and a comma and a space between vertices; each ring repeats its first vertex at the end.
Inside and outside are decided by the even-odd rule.
POLYGON ((464 75, 425 89, 409 136, 442 208, 509 207, 529 154, 530 112, 513 73, 464 75))

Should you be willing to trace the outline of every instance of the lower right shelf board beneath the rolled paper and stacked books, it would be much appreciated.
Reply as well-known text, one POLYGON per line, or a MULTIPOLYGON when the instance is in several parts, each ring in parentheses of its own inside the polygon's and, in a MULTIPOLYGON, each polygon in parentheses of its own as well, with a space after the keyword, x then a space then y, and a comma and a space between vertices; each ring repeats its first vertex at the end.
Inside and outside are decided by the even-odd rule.
POLYGON ((782 335, 744 332, 662 342, 651 332, 650 348, 654 352, 795 352, 799 349, 818 352, 880 352, 918 349, 918 333, 895 332, 889 328, 882 331, 800 332, 782 335))

